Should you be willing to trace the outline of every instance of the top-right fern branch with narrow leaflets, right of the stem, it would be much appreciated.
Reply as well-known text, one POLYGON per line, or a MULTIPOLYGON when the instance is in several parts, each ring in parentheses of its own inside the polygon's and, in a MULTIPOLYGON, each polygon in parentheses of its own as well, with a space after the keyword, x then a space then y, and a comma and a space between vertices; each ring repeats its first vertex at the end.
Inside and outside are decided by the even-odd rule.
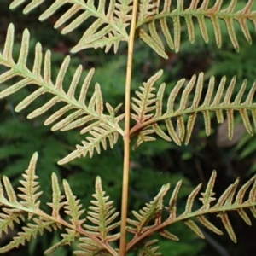
POLYGON ((236 51, 239 51, 239 44, 236 38, 235 23, 241 27, 247 42, 252 44, 251 34, 247 25, 247 20, 251 20, 254 27, 256 26, 255 11, 252 10, 254 0, 249 0, 243 9, 235 12, 237 1, 230 0, 227 7, 224 7, 223 1, 215 0, 213 6, 209 6, 208 0, 198 1, 192 0, 189 8, 184 9, 183 0, 177 1, 177 9, 172 9, 172 1, 166 0, 163 5, 160 1, 141 1, 138 14, 137 28, 139 36, 148 44, 154 51, 164 58, 168 58, 165 52, 164 43, 160 38, 160 32, 166 39, 166 43, 171 49, 176 52, 180 48, 181 39, 181 18, 183 17, 188 28, 189 40, 193 44, 195 41, 195 19, 198 21, 201 36, 207 43, 208 32, 206 18, 212 22, 212 27, 215 33, 215 39, 218 47, 222 45, 221 28, 219 21, 224 20, 229 32, 230 41, 236 51), (163 6, 163 8, 162 8, 163 6), (172 21, 171 21, 172 20, 172 21), (160 30, 157 27, 157 21, 160 22, 160 30), (147 25, 148 32, 142 26, 147 25), (171 34, 173 31, 173 35, 171 34))

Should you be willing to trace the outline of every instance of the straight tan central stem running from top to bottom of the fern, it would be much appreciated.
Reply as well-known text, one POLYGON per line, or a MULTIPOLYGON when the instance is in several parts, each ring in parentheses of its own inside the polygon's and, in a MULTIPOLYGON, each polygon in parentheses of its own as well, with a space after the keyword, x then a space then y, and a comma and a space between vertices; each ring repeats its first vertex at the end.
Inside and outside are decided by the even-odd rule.
POLYGON ((128 56, 125 83, 125 135, 124 135, 124 169, 123 169, 123 191, 122 191, 122 212, 121 212, 121 237, 119 256, 125 256, 126 250, 126 218, 127 218, 127 202, 128 202, 128 185, 129 185, 129 169, 130 169, 130 108, 131 108, 131 71, 132 56, 134 48, 134 37, 137 22, 137 2, 133 1, 131 30, 128 42, 128 56))

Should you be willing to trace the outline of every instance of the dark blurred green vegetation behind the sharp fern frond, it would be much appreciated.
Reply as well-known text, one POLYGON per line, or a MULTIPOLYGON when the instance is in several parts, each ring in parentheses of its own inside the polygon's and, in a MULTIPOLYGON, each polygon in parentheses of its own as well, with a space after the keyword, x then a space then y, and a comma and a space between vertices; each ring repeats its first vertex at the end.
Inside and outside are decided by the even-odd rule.
MULTIPOLYGON (((6 30, 9 22, 15 24, 15 48, 14 55, 17 59, 20 50, 20 38, 23 30, 27 27, 31 32, 30 59, 28 66, 32 67, 34 46, 37 42, 43 45, 44 51, 52 51, 52 73, 55 78, 65 55, 69 55, 69 49, 78 42, 88 24, 79 28, 67 36, 61 36, 55 31, 53 25, 65 11, 61 8, 55 15, 44 23, 38 21, 38 16, 44 12, 51 1, 45 1, 38 9, 29 15, 22 15, 22 8, 10 11, 9 0, 1 1, 0 8, 0 50, 3 49, 6 30)), ((190 1, 185 1, 189 5, 190 1)), ((224 1, 230 3, 230 1, 224 1)), ((241 7, 246 0, 239 1, 241 7)), ((255 9, 255 8, 254 8, 255 9)), ((196 22, 195 22, 196 23, 196 22)), ((210 41, 203 42, 198 26, 195 26, 195 44, 190 44, 186 26, 182 34, 182 45, 179 53, 169 51, 168 60, 160 59, 148 49, 139 39, 137 40, 134 56, 134 72, 132 90, 136 90, 143 81, 156 73, 160 68, 164 69, 164 78, 168 92, 172 90, 178 79, 190 79, 194 73, 205 73, 205 80, 211 75, 216 76, 217 84, 223 75, 227 76, 228 82, 236 75, 239 90, 242 80, 247 79, 248 88, 256 78, 256 38, 253 24, 250 30, 253 36, 253 46, 249 46, 243 38, 241 29, 236 26, 236 35, 241 46, 237 54, 230 43, 224 22, 221 22, 223 47, 218 49, 212 32, 212 25, 207 22, 210 41)), ((124 101, 125 87, 125 58, 126 46, 121 44, 117 55, 113 51, 106 55, 102 49, 87 49, 76 55, 72 55, 72 62, 67 71, 65 82, 70 83, 76 67, 81 63, 84 67, 84 75, 90 67, 96 67, 94 81, 102 85, 102 94, 105 102, 117 106, 124 101)), ((0 73, 4 67, 0 67, 0 73)), ((10 84, 0 84, 3 90, 10 84)), ((66 166, 57 166, 57 160, 73 150, 76 143, 83 138, 78 131, 51 132, 49 127, 43 125, 49 113, 39 119, 26 120, 27 113, 33 108, 42 106, 45 98, 34 103, 33 107, 27 108, 21 113, 15 113, 14 109, 18 102, 28 95, 33 88, 22 90, 15 96, 9 96, 0 101, 0 175, 8 175, 15 186, 19 184, 20 173, 24 172, 32 153, 38 151, 38 176, 44 195, 41 198, 42 207, 51 200, 50 174, 55 172, 57 176, 66 178, 70 183, 75 195, 81 199, 84 207, 88 207, 91 194, 94 190, 94 182, 97 175, 102 177, 103 188, 115 201, 115 207, 120 209, 121 185, 122 185, 122 141, 113 150, 102 151, 99 156, 92 159, 86 157, 73 160, 66 166)), ((52 113, 55 111, 53 108, 52 113)), ((179 195, 179 204, 183 210, 186 196, 198 183, 206 186, 212 170, 217 170, 216 196, 220 195, 236 177, 241 177, 241 183, 252 177, 256 172, 255 137, 250 137, 245 132, 241 120, 237 119, 235 137, 228 140, 227 127, 218 125, 216 119, 212 119, 212 134, 206 137, 203 120, 198 119, 189 146, 178 147, 173 143, 167 143, 158 139, 153 143, 144 143, 131 153, 131 185, 130 185, 130 210, 137 210, 146 201, 150 201, 156 195, 163 183, 170 182, 172 189, 178 180, 183 179, 183 189, 179 195)), ((171 189, 171 192, 172 192, 171 189)), ((166 196, 166 201, 170 198, 166 196)), ((44 207, 49 211, 48 207, 44 207)), ((222 227, 221 222, 214 216, 209 216, 212 223, 222 227)), ((189 230, 184 224, 173 225, 170 230, 180 238, 180 241, 166 241, 160 238, 160 247, 163 255, 168 256, 240 256, 255 255, 256 252, 256 221, 253 226, 247 226, 236 212, 230 213, 230 221, 236 232, 238 243, 230 241, 229 236, 217 236, 204 230, 206 240, 200 238, 189 230)), ((19 231, 16 227, 14 233, 19 231)), ((6 253, 6 255, 43 255, 49 245, 60 241, 60 234, 47 234, 32 240, 26 247, 6 253)), ((3 236, 0 245, 9 241, 9 236, 3 236)), ((75 245, 74 245, 75 246, 75 245)), ((117 245, 118 246, 118 245, 117 245)), ((58 249, 52 255, 71 255, 69 247, 58 249)), ((130 255, 137 255, 136 252, 130 255)))

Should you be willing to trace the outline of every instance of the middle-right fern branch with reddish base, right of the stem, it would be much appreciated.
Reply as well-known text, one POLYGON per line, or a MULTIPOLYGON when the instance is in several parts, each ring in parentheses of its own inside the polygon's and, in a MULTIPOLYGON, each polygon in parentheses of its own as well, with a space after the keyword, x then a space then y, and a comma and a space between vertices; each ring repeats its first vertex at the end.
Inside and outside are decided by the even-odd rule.
POLYGON ((181 95, 182 100, 179 103, 179 107, 176 107, 177 109, 174 109, 174 102, 176 100, 177 95, 180 93, 183 84, 185 83, 185 79, 182 79, 177 82, 176 86, 172 89, 172 92, 170 93, 170 96, 168 98, 166 113, 162 113, 162 107, 164 105, 162 99, 164 95, 165 84, 160 85, 160 89, 158 90, 156 96, 152 93, 152 91, 155 90, 153 84, 156 79, 160 78, 161 73, 162 71, 156 73, 154 77, 148 80, 147 84, 144 84, 145 88, 141 88, 143 93, 136 91, 137 96, 140 98, 140 100, 132 98, 132 100, 136 102, 137 106, 139 106, 140 108, 138 108, 135 104, 132 105, 132 109, 135 112, 137 112, 137 115, 133 114, 131 115, 131 118, 137 121, 137 125, 135 125, 131 129, 131 134, 133 132, 143 130, 139 132, 135 148, 143 142, 153 141, 154 138, 149 137, 148 135, 154 132, 158 134, 160 137, 166 139, 167 141, 173 140, 175 143, 177 143, 177 145, 181 145, 181 142, 183 141, 185 144, 188 144, 195 125, 197 113, 199 112, 203 113, 207 136, 210 135, 211 133, 210 111, 216 113, 218 123, 223 123, 223 110, 225 110, 227 114, 228 131, 230 139, 232 139, 234 131, 234 110, 239 111, 239 113, 241 114, 241 118, 243 120, 243 124, 247 129, 247 132, 253 135, 253 128, 250 125, 250 119, 247 114, 247 110, 251 111, 254 120, 253 123, 256 124, 255 105, 252 102, 254 91, 256 89, 255 83, 251 87, 251 90, 249 91, 245 102, 241 103, 241 98, 244 95, 244 91, 246 90, 246 81, 244 81, 243 84, 241 84, 241 89, 237 93, 234 102, 230 102, 231 96, 233 96, 232 93, 236 84, 236 78, 234 77, 230 81, 229 88, 226 91, 226 94, 224 95, 224 85, 226 82, 226 78, 223 77, 220 81, 220 84, 218 85, 218 91, 216 92, 216 95, 213 97, 212 94, 214 91, 215 79, 214 77, 211 77, 207 88, 206 96, 204 98, 203 103, 200 105, 204 80, 203 73, 200 73, 195 87, 195 96, 193 102, 190 103, 188 99, 189 93, 191 92, 191 90, 193 90, 193 87, 195 85, 196 76, 193 76, 189 80, 189 83, 186 84, 186 88, 183 90, 183 93, 181 95), (221 102, 222 98, 223 102, 221 102), (190 104, 191 106, 189 106, 190 104), (155 111, 155 113, 152 113, 153 111, 155 111), (187 128, 185 128, 184 124, 184 115, 189 116, 187 121, 187 128), (176 117, 178 135, 172 125, 172 120, 176 117), (166 121, 166 128, 170 137, 168 137, 166 133, 158 125, 158 122, 160 122, 161 120, 166 121), (144 127, 147 128, 145 129, 144 127))

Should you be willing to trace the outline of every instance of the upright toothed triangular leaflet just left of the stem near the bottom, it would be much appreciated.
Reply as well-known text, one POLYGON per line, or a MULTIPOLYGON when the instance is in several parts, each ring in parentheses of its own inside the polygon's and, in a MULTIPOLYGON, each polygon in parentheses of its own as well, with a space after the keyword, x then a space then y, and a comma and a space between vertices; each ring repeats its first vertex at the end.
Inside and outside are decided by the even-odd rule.
POLYGON ((103 242, 115 241, 119 239, 120 234, 109 235, 109 232, 119 227, 120 222, 113 223, 114 219, 119 216, 119 212, 115 212, 113 201, 108 201, 108 196, 102 189, 102 181, 100 177, 96 177, 96 194, 92 196, 96 201, 90 201, 93 206, 90 206, 87 219, 91 224, 84 224, 86 230, 98 237, 103 242))

